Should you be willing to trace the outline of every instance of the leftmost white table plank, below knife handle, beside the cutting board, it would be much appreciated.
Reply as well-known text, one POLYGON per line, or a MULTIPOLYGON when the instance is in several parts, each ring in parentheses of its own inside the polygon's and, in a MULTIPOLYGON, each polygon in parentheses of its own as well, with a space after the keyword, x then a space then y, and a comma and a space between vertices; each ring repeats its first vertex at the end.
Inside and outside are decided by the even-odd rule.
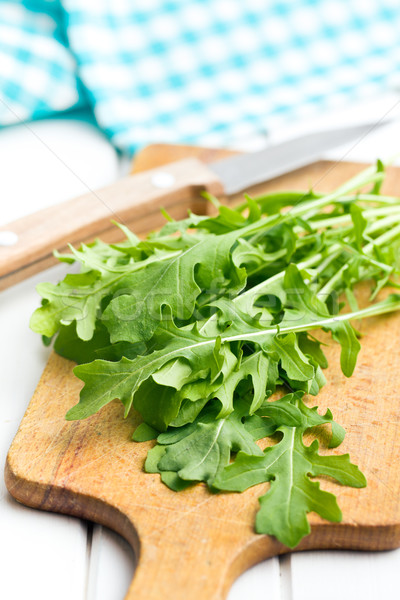
MULTIPOLYGON (((53 276, 56 277, 56 273, 53 276)), ((0 453, 3 464, 47 360, 48 351, 28 329, 29 315, 36 304, 32 282, 15 286, 0 297, 0 453)), ((0 532, 0 598, 84 600, 85 524, 17 504, 1 478, 0 532)))

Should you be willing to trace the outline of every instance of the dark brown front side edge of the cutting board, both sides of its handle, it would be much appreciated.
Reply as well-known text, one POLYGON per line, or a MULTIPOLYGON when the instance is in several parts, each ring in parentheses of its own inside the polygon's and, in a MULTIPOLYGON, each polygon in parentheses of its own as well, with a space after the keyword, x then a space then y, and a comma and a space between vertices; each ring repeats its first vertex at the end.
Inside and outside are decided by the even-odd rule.
MULTIPOLYGON (((136 557, 139 558, 141 544, 146 544, 146 538, 142 536, 139 538, 135 523, 122 510, 104 499, 89 494, 30 480, 19 470, 12 449, 13 446, 7 455, 4 479, 8 492, 15 500, 30 508, 84 518, 109 527, 127 540, 136 557)), ((231 565, 233 568, 236 561, 240 564, 244 562, 246 565, 237 573, 236 568, 233 568, 236 573, 233 579, 266 558, 288 552, 323 549, 385 551, 400 547, 400 520, 385 525, 360 523, 345 523, 345 525, 344 528, 343 523, 326 521, 312 524, 311 533, 294 549, 283 546, 270 536, 254 534, 250 544, 239 551, 231 565), (263 540, 269 542, 267 549, 264 549, 263 540), (271 541, 276 546, 273 553, 270 548, 271 541), (250 558, 246 560, 244 553, 248 553, 250 558)))

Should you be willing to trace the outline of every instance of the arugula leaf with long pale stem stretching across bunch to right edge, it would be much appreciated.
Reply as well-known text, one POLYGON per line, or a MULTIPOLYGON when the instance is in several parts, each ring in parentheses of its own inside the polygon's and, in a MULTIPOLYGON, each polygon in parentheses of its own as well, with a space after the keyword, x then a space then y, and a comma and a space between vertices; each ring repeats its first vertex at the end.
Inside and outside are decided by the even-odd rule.
MULTIPOLYGON (((307 331, 316 327, 334 328, 337 331, 338 325, 352 317, 372 316, 396 308, 400 308, 400 297, 392 295, 385 301, 357 313, 341 315, 340 318, 326 317, 317 322, 312 320, 305 323, 302 320, 300 324, 293 327, 263 329, 258 327, 254 319, 253 323, 251 319, 248 323, 242 320, 241 324, 246 325, 242 330, 238 323, 233 323, 232 331, 229 328, 222 335, 212 338, 201 336, 196 326, 191 329, 178 328, 173 321, 164 322, 159 329, 160 340, 163 340, 162 349, 155 350, 149 355, 138 356, 133 360, 125 357, 118 362, 95 360, 87 365, 75 367, 74 373, 85 382, 85 386, 81 391, 79 404, 68 411, 67 419, 86 418, 108 402, 119 398, 125 405, 126 415, 133 403, 149 425, 165 429, 178 414, 179 397, 170 396, 170 402, 155 397, 151 404, 147 401, 137 404, 134 398, 142 384, 150 377, 157 378, 156 372, 177 358, 184 358, 185 361, 180 363, 179 369, 172 370, 173 376, 169 380, 169 386, 178 391, 186 383, 194 382, 198 378, 210 377, 211 383, 216 381, 223 373, 227 361, 232 360, 230 344, 241 341, 255 341, 261 345, 263 352, 275 356, 275 360, 282 364, 289 377, 295 375, 300 382, 306 381, 308 375, 315 377, 315 369, 298 348, 295 331, 307 331), (240 333, 237 333, 238 331, 240 333), (231 333, 233 335, 230 335, 231 333), (190 369, 185 368, 185 362, 191 367, 190 369)), ((345 339, 341 341, 343 345, 346 342, 345 339)), ((347 357, 348 354, 347 352, 345 356, 347 357)))

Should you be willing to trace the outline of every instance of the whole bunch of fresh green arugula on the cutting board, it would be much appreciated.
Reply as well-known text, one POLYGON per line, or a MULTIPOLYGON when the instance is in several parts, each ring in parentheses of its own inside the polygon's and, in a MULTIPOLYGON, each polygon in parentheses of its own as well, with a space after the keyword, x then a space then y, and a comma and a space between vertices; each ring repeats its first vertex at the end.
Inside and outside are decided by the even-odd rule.
POLYGON ((67 419, 115 398, 125 415, 134 407, 143 423, 133 439, 157 437, 145 469, 173 490, 270 482, 256 530, 287 546, 309 533, 310 511, 340 521, 335 496, 311 478, 353 487, 366 480, 348 455, 321 456, 316 439, 303 441, 324 423, 330 447, 344 438, 329 410, 320 415, 304 402, 324 385, 327 367, 311 332, 339 342, 350 376, 360 349, 350 320, 400 308, 392 294, 359 309, 353 291, 371 280, 374 299, 396 285, 400 200, 380 194, 383 178, 378 162, 328 195, 279 192, 237 208, 211 199, 216 216, 167 216, 145 240, 119 225, 120 244, 58 255, 80 272, 38 286, 42 306, 31 327, 46 343, 55 336, 55 350, 79 363, 85 386, 67 419), (341 293, 350 312, 340 312, 341 293), (263 438, 264 451, 256 443, 263 438))

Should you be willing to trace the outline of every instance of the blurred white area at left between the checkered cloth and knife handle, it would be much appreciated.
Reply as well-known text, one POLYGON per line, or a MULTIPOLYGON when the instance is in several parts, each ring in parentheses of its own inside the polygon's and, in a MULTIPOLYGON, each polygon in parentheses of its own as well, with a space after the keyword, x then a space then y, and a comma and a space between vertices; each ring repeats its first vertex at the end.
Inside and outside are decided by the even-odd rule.
POLYGON ((0 131, 0 224, 107 185, 118 172, 117 153, 83 118, 7 127, 0 131))

